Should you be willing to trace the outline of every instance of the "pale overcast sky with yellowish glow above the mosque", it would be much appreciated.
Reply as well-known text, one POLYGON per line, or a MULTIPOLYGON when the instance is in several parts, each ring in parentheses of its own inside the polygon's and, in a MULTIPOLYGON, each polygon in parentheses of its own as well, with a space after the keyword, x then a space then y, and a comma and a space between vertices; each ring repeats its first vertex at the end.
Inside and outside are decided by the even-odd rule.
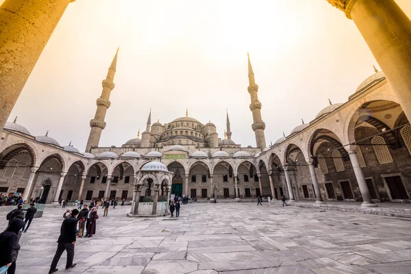
MULTIPOLYGON (((3 0, 0 0, 0 3, 3 0)), ((411 1, 397 0, 411 16, 411 1)), ((152 122, 188 115, 223 138, 256 145, 247 51, 266 142, 347 101, 377 62, 353 21, 325 0, 77 0, 69 5, 9 121, 84 151, 117 47, 116 84, 101 147, 120 147, 152 122)))

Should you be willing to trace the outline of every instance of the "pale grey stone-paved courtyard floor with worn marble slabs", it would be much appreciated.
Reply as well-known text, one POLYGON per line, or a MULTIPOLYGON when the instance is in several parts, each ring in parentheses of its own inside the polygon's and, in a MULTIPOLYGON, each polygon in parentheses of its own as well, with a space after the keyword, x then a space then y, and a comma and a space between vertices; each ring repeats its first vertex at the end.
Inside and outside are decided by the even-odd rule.
MULTIPOLYGON (((1 208, 1 227, 5 210, 1 208)), ((181 217, 129 219, 110 208, 77 266, 57 273, 411 273, 411 222, 397 217, 255 203, 197 203, 181 217)), ((16 273, 48 273, 62 208, 46 208, 21 238, 16 273)))

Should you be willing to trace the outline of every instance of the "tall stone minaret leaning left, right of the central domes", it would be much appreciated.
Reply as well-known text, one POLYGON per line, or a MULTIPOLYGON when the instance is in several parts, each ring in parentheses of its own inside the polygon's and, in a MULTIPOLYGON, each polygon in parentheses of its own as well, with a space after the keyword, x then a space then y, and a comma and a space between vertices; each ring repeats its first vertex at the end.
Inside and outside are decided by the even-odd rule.
POLYGON ((250 110, 253 112, 253 128, 254 133, 256 134, 256 143, 257 147, 260 149, 264 149, 266 147, 265 136, 264 136, 264 129, 265 123, 261 119, 261 103, 258 101, 258 85, 256 84, 256 80, 254 79, 253 68, 251 67, 250 56, 248 55, 248 62, 249 62, 249 87, 248 92, 251 96, 251 104, 250 110))

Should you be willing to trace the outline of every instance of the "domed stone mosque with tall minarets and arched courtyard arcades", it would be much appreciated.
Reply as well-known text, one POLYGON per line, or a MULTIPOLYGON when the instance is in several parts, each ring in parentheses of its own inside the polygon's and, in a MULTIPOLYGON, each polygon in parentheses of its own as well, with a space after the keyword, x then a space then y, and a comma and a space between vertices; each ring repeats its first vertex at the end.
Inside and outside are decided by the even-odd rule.
MULTIPOLYGON (((411 126, 382 71, 364 79, 345 103, 329 101, 316 118, 266 147, 258 85, 248 59, 249 108, 256 147, 232 140, 229 115, 225 136, 216 126, 188 116, 151 123, 119 147, 99 147, 114 89, 117 51, 102 82, 86 151, 23 125, 5 124, 0 141, 0 192, 59 199, 132 200, 139 171, 171 172, 174 195, 207 199, 279 199, 409 202, 411 126)), ((235 135, 234 135, 235 137, 235 135)), ((171 174, 170 173, 170 174, 171 174)), ((162 178, 155 178, 162 180, 162 178)), ((165 178, 166 180, 166 178, 165 178)), ((146 190, 147 192, 147 190, 146 190)))

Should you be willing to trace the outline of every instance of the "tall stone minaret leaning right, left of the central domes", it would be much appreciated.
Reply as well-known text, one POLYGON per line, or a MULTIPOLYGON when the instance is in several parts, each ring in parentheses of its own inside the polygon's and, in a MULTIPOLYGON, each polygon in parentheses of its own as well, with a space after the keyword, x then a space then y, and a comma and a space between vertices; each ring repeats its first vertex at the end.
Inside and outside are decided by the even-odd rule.
POLYGON ((110 68, 108 69, 107 77, 101 83, 103 86, 103 91, 101 92, 101 96, 97 99, 97 110, 95 114, 95 118, 90 121, 90 135, 88 136, 88 141, 86 145, 86 152, 90 152, 92 147, 98 147, 101 137, 101 131, 105 127, 105 113, 107 109, 110 108, 110 92, 114 88, 114 74, 116 73, 116 66, 117 66, 117 54, 119 53, 119 49, 117 49, 116 55, 114 55, 114 59, 110 68))

